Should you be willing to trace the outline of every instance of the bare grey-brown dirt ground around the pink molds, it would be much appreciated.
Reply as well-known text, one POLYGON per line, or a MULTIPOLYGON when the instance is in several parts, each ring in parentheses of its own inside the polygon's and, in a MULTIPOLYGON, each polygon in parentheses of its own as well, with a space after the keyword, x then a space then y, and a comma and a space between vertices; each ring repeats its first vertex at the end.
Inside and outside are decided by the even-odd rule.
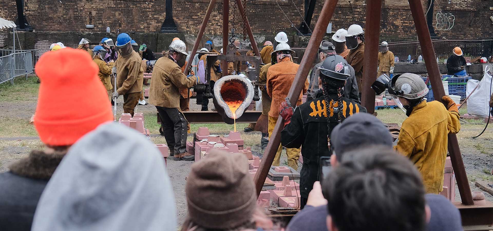
MULTIPOLYGON (((121 114, 123 112, 122 98, 123 97, 120 97, 118 99, 117 114, 121 114)), ((10 124, 10 122, 29 120, 29 118, 31 118, 31 115, 35 112, 36 100, 37 98, 35 96, 30 96, 29 100, 1 102, 0 131, 6 128, 10 124)), ((213 105, 211 100, 209 104, 209 109, 211 110, 212 108, 213 105)), ((195 100, 192 99, 190 101, 190 109, 194 111, 199 111, 201 109, 201 105, 195 104, 195 100)), ((144 114, 149 114, 149 116, 151 116, 151 114, 155 113, 156 109, 153 105, 139 105, 136 111, 143 112, 144 114)), ((378 117, 382 119, 385 123, 399 124, 402 123, 402 120, 405 118, 405 116, 402 115, 402 112, 399 113, 392 110, 380 110, 378 117)), ((246 124, 242 124, 239 126, 238 130, 242 132, 242 137, 245 139, 246 145, 251 146, 254 155, 262 156, 263 151, 259 145, 261 137, 260 132, 245 133, 243 132, 243 128, 245 127, 246 124)), ((490 125, 490 128, 481 137, 477 139, 470 138, 471 136, 477 135, 479 132, 481 132, 483 128, 484 125, 463 125, 461 131, 458 134, 460 149, 472 191, 480 191, 474 185, 475 180, 493 182, 493 176, 491 174, 491 171, 493 169, 493 126, 490 125)), ((34 131, 33 126, 30 126, 29 129, 34 131)), ((232 128, 224 127, 221 129, 222 130, 219 133, 225 134, 232 128)), ((8 165, 19 160, 22 157, 27 156, 31 150, 42 148, 42 143, 36 137, 33 137, 34 139, 19 138, 14 140, 6 140, 6 137, 22 136, 17 134, 15 132, 15 129, 12 131, 14 132, 0 135, 0 172, 7 171, 8 165)), ((211 132, 217 133, 214 131, 211 132)), ((158 132, 151 131, 151 133, 157 134, 158 132)), ((32 136, 35 136, 35 132, 32 136)), ((188 136, 188 140, 191 139, 192 135, 190 134, 188 136)), ((151 137, 151 140, 154 143, 165 143, 164 138, 160 136, 153 136, 151 137)), ((192 164, 193 162, 173 161, 171 160, 171 158, 170 160, 168 160, 167 168, 175 194, 173 196, 176 202, 176 211, 179 225, 183 222, 187 213, 185 199, 185 176, 188 174, 190 166, 192 164)), ((281 165, 287 165, 285 151, 283 151, 281 165)), ((298 170, 300 169, 301 165, 299 165, 298 170)), ((493 201, 492 195, 485 193, 485 196, 488 200, 493 201)), ((170 198, 171 197, 172 195, 170 195, 170 198)), ((460 200, 458 189, 456 189, 456 200, 460 200)))

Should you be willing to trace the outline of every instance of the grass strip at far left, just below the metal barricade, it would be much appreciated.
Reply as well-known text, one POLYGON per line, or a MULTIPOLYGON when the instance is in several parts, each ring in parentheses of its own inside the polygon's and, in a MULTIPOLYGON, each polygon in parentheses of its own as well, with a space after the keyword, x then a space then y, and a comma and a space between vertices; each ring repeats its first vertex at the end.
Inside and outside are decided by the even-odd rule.
POLYGON ((28 101, 37 97, 39 84, 35 75, 29 75, 28 79, 19 76, 14 79, 14 85, 10 82, 0 84, 0 102, 28 101))

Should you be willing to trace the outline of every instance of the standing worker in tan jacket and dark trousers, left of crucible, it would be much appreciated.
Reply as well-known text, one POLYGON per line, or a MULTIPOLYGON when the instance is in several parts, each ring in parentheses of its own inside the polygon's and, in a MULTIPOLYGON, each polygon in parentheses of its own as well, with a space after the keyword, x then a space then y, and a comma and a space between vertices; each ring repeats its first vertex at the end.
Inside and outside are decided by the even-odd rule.
POLYGON ((149 103, 155 105, 161 117, 161 128, 170 153, 175 161, 193 161, 195 156, 186 152, 187 121, 180 108, 180 89, 197 84, 197 77, 185 75, 177 65, 186 57, 186 46, 181 40, 170 44, 170 50, 159 58, 152 71, 149 103))

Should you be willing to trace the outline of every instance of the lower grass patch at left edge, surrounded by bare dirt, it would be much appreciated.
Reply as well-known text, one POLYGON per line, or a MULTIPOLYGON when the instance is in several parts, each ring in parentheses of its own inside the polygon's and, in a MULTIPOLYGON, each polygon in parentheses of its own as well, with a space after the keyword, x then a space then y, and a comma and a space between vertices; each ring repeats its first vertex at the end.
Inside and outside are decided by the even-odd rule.
POLYGON ((37 136, 34 125, 29 119, 12 119, 5 117, 0 119, 0 137, 37 136))

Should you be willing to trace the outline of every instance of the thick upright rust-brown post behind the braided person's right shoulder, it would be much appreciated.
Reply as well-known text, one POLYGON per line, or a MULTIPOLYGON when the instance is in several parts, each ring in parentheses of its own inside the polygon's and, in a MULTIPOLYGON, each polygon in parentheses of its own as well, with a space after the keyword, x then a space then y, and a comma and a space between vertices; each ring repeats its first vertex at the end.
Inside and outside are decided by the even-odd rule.
POLYGON ((377 79, 378 44, 380 37, 380 14, 382 0, 367 1, 365 23, 365 54, 363 59, 363 81, 361 104, 370 114, 375 112, 375 91, 370 86, 377 79))

